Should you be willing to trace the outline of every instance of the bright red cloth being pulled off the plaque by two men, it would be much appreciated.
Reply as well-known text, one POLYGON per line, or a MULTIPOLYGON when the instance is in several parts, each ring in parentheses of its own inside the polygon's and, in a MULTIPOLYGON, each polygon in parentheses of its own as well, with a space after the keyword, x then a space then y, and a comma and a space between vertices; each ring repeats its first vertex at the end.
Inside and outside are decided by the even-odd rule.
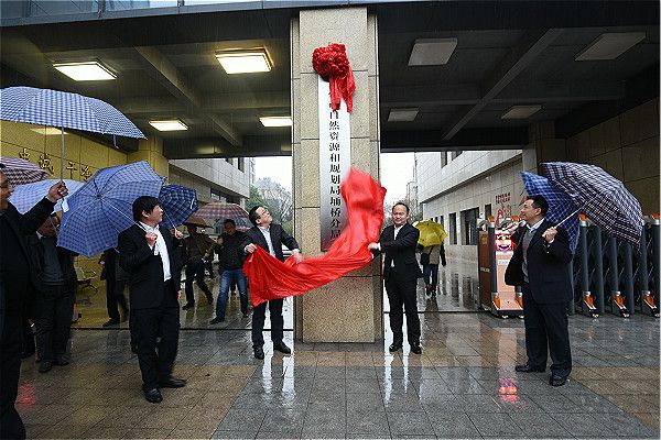
MULTIPOLYGON (((243 264, 254 306, 271 299, 301 295, 360 268, 372 260, 367 244, 379 239, 386 188, 367 173, 351 168, 342 184, 348 224, 319 257, 293 257, 284 263, 258 248, 243 264)), ((303 226, 305 228, 305 226, 303 226)))

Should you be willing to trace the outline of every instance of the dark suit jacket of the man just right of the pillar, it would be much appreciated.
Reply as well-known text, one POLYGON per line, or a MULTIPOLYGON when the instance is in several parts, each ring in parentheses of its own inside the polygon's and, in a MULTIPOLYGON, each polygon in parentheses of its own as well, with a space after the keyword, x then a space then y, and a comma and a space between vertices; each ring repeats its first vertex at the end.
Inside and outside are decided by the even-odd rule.
MULTIPOLYGON (((393 261, 394 266, 398 268, 398 276, 401 277, 401 280, 422 278, 422 271, 415 258, 415 249, 418 246, 419 238, 420 231, 409 223, 405 223, 398 232, 397 239, 394 238, 393 224, 383 229, 381 237, 379 237, 381 252, 386 253, 383 260, 383 279, 390 279, 393 261)), ((381 252, 375 252, 375 254, 378 255, 381 252)))

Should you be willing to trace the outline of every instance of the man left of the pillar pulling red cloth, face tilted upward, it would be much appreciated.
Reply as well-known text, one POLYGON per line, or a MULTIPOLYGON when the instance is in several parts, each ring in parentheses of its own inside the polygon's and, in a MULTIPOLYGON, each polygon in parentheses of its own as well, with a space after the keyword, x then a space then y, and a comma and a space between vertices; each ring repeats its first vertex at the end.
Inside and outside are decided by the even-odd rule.
MULTIPOLYGON (((303 260, 303 255, 299 250, 296 240, 288 234, 280 224, 273 223, 273 218, 269 210, 264 207, 254 207, 250 210, 248 217, 252 224, 246 231, 246 239, 239 249, 242 249, 246 254, 251 254, 257 250, 257 246, 262 248, 271 255, 280 261, 284 261, 282 254, 282 245, 284 244, 292 250, 296 262, 303 260)), ((250 282, 250 279, 248 279, 250 282)), ((272 299, 268 301, 269 311, 271 312, 271 340, 273 341, 273 350, 278 350, 284 354, 291 354, 292 350, 282 342, 283 324, 282 318, 282 299, 272 299)), ((264 319, 267 316, 267 302, 257 306, 252 311, 252 350, 256 359, 264 359, 264 319)))

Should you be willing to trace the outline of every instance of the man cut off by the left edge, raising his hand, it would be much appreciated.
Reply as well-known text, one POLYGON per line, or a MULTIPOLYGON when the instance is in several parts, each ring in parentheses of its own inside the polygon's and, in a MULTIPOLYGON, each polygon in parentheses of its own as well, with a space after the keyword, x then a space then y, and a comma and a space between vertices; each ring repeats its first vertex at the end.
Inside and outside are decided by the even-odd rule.
POLYGON ((14 404, 19 394, 26 292, 36 284, 26 235, 48 218, 55 201, 67 195, 64 183, 48 189, 44 199, 24 215, 9 202, 13 193, 0 167, 0 438, 24 439, 25 427, 14 404))

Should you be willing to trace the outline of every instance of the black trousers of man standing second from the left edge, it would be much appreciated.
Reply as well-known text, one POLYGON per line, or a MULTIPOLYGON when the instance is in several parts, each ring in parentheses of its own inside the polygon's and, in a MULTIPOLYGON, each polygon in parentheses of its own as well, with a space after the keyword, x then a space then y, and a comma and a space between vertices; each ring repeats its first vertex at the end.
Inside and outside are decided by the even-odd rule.
POLYGON ((36 348, 42 361, 54 361, 66 352, 71 336, 74 293, 64 286, 51 286, 34 298, 36 348))

